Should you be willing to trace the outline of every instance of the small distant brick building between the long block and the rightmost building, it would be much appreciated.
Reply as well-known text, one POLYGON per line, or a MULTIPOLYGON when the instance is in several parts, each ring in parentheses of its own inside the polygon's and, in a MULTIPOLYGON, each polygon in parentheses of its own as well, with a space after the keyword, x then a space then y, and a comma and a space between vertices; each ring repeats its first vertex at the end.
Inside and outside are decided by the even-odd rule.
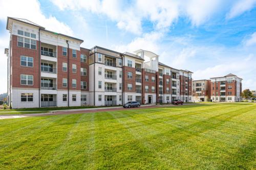
POLYGON ((210 101, 210 80, 193 80, 193 101, 208 102, 210 101))

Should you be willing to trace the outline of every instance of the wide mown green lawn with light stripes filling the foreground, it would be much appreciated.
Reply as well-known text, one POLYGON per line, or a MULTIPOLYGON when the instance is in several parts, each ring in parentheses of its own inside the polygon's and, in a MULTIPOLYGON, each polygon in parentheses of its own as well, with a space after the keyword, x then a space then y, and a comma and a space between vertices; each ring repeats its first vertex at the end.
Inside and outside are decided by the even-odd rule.
POLYGON ((0 169, 256 169, 256 104, 0 120, 0 169))

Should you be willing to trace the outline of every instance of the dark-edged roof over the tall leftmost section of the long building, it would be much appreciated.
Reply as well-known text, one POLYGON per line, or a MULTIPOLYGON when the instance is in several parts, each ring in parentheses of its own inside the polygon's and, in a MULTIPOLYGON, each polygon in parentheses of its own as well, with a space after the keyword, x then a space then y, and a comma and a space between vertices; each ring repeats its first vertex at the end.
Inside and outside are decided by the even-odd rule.
POLYGON ((42 26, 39 26, 38 24, 28 20, 28 19, 24 19, 24 18, 14 18, 14 17, 7 17, 7 25, 6 25, 6 29, 8 30, 8 23, 9 23, 9 19, 12 19, 12 20, 16 20, 16 21, 19 21, 19 22, 23 22, 23 23, 27 23, 31 26, 34 26, 34 27, 38 27, 40 28, 41 30, 43 31, 46 31, 46 32, 49 32, 49 33, 52 33, 52 34, 56 34, 56 35, 60 35, 60 36, 64 36, 64 37, 68 37, 68 38, 71 38, 71 39, 75 39, 77 41, 81 41, 83 42, 82 39, 78 39, 78 38, 75 38, 75 37, 71 37, 71 36, 68 36, 68 35, 65 35, 65 34, 60 34, 60 33, 55 33, 55 32, 52 32, 52 31, 49 31, 49 30, 46 30, 46 28, 42 27, 42 26))

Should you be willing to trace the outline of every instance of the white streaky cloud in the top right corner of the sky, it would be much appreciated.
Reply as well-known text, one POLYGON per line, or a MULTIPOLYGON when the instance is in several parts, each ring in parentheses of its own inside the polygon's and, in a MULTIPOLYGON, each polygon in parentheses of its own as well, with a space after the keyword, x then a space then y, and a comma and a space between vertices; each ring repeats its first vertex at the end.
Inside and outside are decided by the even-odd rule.
POLYGON ((241 15, 245 11, 251 10, 256 5, 256 0, 239 0, 234 3, 230 11, 227 13, 226 18, 230 19, 241 15))

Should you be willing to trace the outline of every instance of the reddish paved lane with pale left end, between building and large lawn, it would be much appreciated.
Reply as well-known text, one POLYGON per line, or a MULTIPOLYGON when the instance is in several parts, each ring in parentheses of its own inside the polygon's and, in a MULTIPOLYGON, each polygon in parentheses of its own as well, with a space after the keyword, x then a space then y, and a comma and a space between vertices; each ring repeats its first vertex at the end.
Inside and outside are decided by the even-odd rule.
MULTIPOLYGON (((184 104, 184 105, 195 105, 195 104, 184 104)), ((184 106, 184 105, 178 105, 178 106, 184 106)), ((155 104, 153 104, 153 105, 141 105, 139 108, 123 108, 122 106, 120 106, 120 107, 118 106, 118 107, 101 107, 101 108, 71 109, 71 110, 53 110, 53 111, 48 111, 47 113, 5 114, 5 115, 0 115, 0 119, 63 115, 63 114, 81 114, 81 113, 118 111, 118 110, 127 110, 127 109, 145 109, 145 108, 157 108, 157 107, 177 107, 177 105, 155 105, 155 104)), ((36 111, 34 111, 34 112, 36 112, 36 111)))

